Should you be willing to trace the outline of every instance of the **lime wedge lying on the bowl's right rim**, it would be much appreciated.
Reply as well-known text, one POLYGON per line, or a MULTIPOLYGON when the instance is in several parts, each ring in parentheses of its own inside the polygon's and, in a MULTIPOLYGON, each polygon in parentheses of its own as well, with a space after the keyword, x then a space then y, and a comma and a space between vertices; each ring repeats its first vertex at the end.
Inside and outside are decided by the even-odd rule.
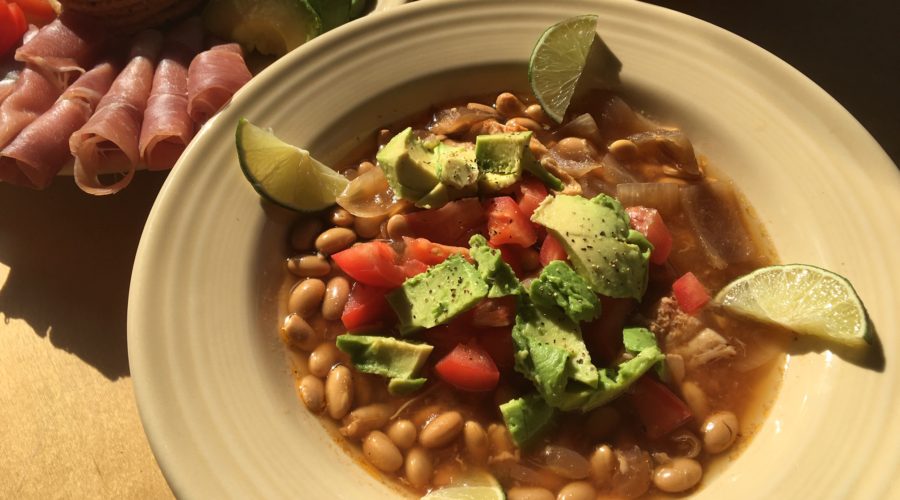
POLYGON ((728 311, 850 346, 872 342, 862 300, 846 278, 806 264, 757 269, 714 302, 728 311))

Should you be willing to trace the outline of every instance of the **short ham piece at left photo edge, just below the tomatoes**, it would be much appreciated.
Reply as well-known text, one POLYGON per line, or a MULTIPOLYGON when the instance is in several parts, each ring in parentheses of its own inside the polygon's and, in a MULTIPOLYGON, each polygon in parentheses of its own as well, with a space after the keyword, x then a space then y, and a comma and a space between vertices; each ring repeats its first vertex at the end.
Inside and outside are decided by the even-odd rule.
POLYGON ((53 81, 26 66, 16 80, 15 89, 0 103, 0 148, 50 109, 60 94, 62 89, 53 81))

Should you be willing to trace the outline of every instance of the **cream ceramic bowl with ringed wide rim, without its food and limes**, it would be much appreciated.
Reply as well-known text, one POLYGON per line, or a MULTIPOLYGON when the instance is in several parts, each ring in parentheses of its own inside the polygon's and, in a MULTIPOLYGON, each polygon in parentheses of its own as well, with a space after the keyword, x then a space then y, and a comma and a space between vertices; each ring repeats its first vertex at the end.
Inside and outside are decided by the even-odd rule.
POLYGON ((151 445, 186 498, 390 498, 306 412, 276 337, 286 225, 241 176, 239 117, 325 162, 381 124, 451 97, 524 89, 544 28, 583 13, 623 81, 680 123, 741 187, 785 262, 849 277, 881 370, 798 348, 768 419, 698 498, 900 495, 900 175, 824 91, 754 45, 638 2, 428 1, 313 40, 264 71, 198 135, 138 250, 128 347, 151 445))

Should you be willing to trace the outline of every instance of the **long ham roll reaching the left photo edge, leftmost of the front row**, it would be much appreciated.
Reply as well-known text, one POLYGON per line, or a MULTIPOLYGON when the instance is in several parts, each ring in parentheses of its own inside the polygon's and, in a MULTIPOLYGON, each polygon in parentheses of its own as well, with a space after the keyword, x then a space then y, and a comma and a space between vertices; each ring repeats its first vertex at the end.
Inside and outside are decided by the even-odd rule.
POLYGON ((69 137, 93 114, 118 68, 108 62, 81 75, 59 100, 0 151, 0 180, 44 189, 72 158, 69 137))

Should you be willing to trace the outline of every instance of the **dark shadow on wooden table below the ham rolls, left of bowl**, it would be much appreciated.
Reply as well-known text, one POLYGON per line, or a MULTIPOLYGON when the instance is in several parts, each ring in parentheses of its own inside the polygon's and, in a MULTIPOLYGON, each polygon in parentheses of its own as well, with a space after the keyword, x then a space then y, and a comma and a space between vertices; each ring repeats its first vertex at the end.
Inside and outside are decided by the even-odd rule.
POLYGON ((111 380, 128 376, 131 267, 165 178, 141 172, 105 197, 82 193, 71 178, 46 191, 0 183, 0 264, 9 268, 0 313, 111 380))

